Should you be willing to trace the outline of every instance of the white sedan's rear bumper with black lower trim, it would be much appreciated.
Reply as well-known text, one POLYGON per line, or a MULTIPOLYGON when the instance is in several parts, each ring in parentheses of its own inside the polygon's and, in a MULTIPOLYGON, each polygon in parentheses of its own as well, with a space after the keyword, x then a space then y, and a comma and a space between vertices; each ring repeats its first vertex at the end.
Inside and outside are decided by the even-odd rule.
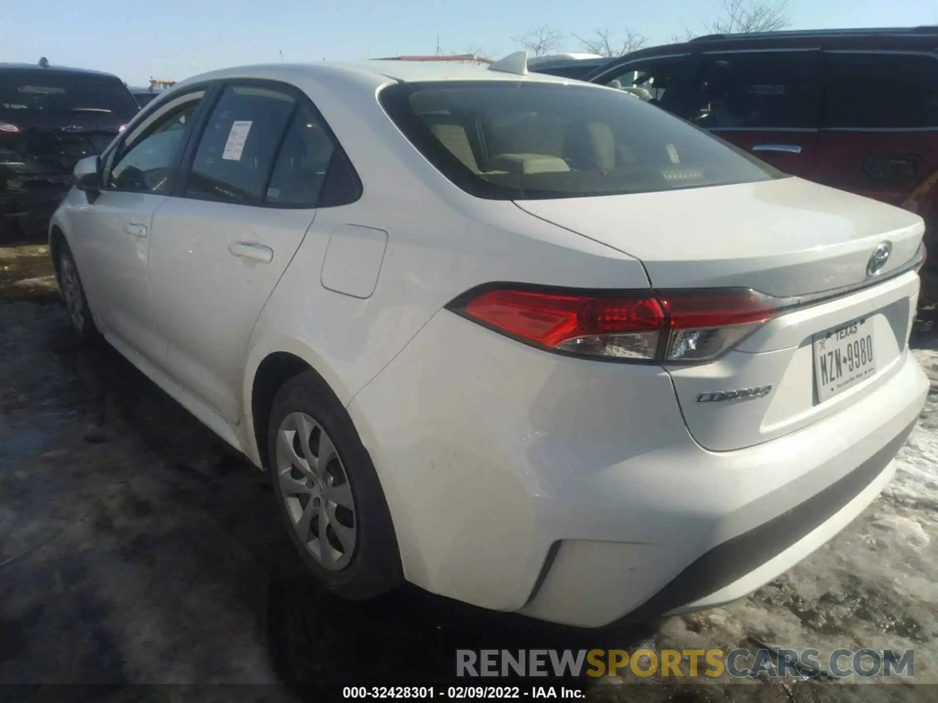
POLYGON ((878 495, 924 405, 889 383, 776 440, 710 452, 660 368, 525 347, 443 311, 349 405, 405 575, 478 606, 596 627, 717 605, 878 495))

